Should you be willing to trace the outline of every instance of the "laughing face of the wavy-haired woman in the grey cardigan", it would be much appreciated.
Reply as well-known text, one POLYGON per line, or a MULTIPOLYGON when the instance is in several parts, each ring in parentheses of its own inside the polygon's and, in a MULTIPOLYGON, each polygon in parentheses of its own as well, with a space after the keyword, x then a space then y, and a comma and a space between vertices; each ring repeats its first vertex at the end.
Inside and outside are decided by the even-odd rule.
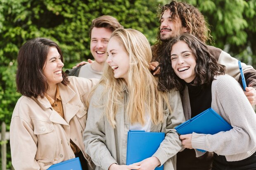
POLYGON ((178 41, 173 45, 171 50, 171 66, 175 74, 187 83, 192 82, 196 77, 194 71, 196 58, 184 41, 178 41))

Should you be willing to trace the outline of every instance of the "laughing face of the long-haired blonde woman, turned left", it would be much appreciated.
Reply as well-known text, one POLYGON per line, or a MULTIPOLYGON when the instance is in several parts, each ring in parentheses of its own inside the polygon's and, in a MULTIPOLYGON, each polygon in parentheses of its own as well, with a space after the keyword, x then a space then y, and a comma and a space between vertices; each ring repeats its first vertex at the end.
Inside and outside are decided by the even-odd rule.
POLYGON ((112 37, 107 46, 107 63, 114 71, 114 77, 125 79, 128 82, 128 70, 130 67, 129 55, 123 49, 120 42, 112 37))

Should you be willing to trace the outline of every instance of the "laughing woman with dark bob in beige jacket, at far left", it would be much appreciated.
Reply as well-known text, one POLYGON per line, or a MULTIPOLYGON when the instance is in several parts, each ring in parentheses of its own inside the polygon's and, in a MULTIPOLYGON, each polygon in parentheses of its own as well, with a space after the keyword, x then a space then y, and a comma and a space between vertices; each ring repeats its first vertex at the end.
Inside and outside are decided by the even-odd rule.
POLYGON ((17 58, 19 98, 10 125, 15 170, 46 170, 79 157, 88 169, 82 133, 87 118, 88 92, 97 80, 66 77, 59 46, 46 38, 26 42, 17 58))

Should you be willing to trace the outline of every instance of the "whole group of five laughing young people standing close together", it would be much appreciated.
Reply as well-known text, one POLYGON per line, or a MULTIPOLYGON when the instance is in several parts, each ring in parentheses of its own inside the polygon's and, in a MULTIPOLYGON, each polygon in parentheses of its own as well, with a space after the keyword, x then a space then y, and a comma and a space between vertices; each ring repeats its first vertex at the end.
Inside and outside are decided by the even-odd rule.
POLYGON ((63 55, 52 40, 35 38, 21 47, 16 82, 22 97, 10 125, 15 169, 45 170, 75 157, 83 170, 256 168, 256 70, 242 64, 244 92, 237 60, 205 44, 209 30, 192 5, 171 1, 159 21, 158 41, 150 47, 142 33, 111 16, 93 20, 95 62, 68 71, 79 77, 62 71, 63 55), (84 78, 88 70, 100 80, 84 78), (232 129, 176 132, 209 107, 232 129), (164 132, 165 138, 152 157, 126 165, 129 130, 164 132))

